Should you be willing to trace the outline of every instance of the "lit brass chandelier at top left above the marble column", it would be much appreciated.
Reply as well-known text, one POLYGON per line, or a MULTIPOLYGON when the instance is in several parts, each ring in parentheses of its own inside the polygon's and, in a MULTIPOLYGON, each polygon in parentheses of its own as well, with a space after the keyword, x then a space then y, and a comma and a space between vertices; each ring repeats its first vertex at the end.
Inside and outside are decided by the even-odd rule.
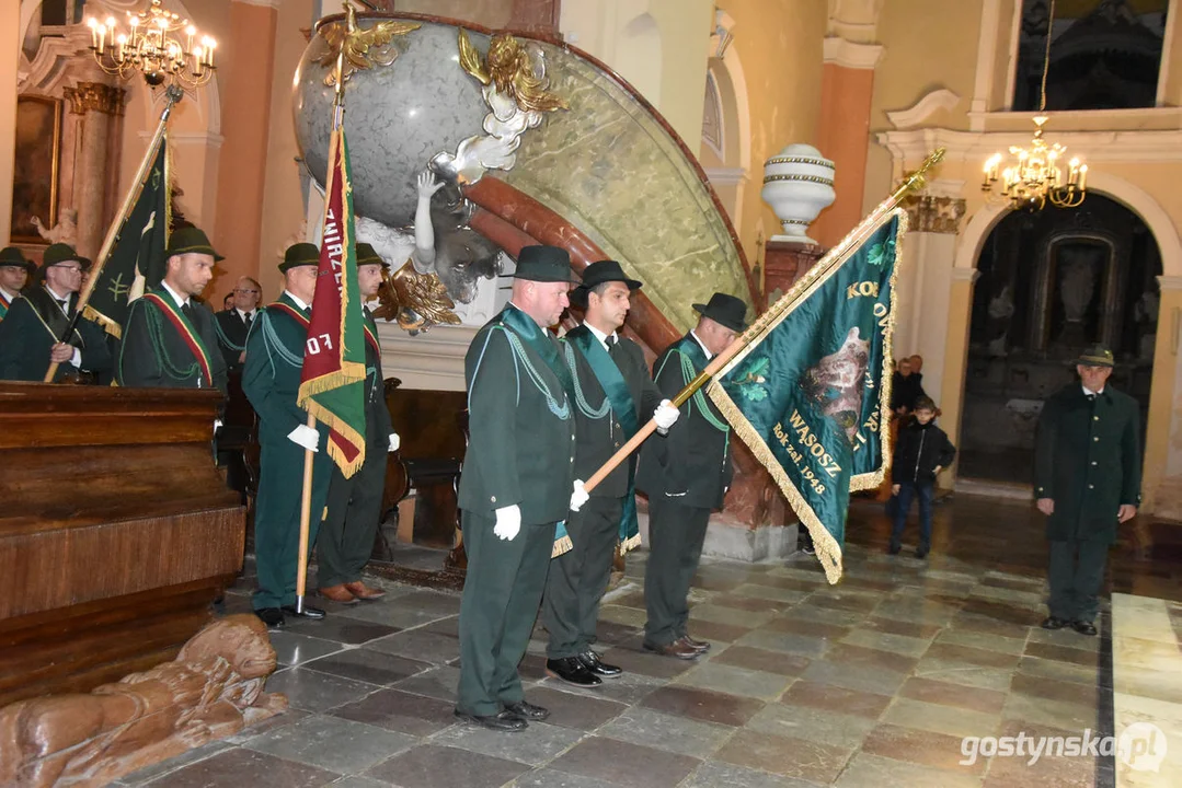
POLYGON ((147 11, 128 12, 125 32, 115 17, 105 21, 89 18, 86 25, 95 60, 103 71, 123 79, 142 73, 152 87, 165 83, 189 89, 204 85, 216 70, 214 50, 217 43, 208 35, 199 37, 197 28, 188 19, 164 11, 160 4, 161 0, 151 0, 147 11))

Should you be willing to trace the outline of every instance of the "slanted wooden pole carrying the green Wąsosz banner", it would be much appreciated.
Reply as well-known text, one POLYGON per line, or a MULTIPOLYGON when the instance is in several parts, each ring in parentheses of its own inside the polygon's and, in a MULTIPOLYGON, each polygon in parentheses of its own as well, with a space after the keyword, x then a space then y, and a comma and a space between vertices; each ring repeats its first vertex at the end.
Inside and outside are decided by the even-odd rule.
MULTIPOLYGON (((842 239, 840 243, 830 249, 829 253, 818 263, 818 267, 821 269, 836 268, 837 266, 845 262, 845 259, 846 256, 849 256, 850 252, 858 245, 860 245, 862 241, 865 240, 865 236, 868 235, 870 229, 877 224, 878 220, 882 219, 883 214, 894 210, 895 206, 898 204, 898 202, 903 198, 903 196, 908 191, 913 189, 923 188, 923 176, 927 174, 928 170, 935 167, 943 157, 944 157, 944 149, 937 148, 931 155, 929 155, 923 161, 923 164, 920 167, 920 169, 917 169, 915 172, 911 172, 903 181, 903 183, 897 189, 895 189, 895 193, 891 194, 890 197, 879 203, 879 206, 875 208, 869 216, 862 220, 862 222, 849 235, 842 239)), ((788 306, 794 304, 800 295, 801 293, 790 291, 784 298, 773 304, 771 308, 767 310, 767 312, 761 314, 759 319, 755 320, 749 328, 747 328, 747 331, 745 331, 741 336, 736 337, 735 340, 730 343, 729 347, 727 347, 725 351, 722 351, 713 359, 710 359, 710 363, 706 365, 704 370, 697 373, 696 378, 690 380, 684 389, 677 392, 677 396, 674 397, 671 400, 673 406, 681 408, 683 404, 686 404, 686 400, 693 397, 694 392, 696 392, 703 385, 709 383, 710 378, 717 375, 719 371, 722 370, 722 367, 725 367, 727 364, 730 363, 730 359, 733 359, 735 356, 742 352, 742 350, 746 349, 747 345, 749 345, 752 341, 755 340, 756 337, 764 333, 764 331, 767 328, 767 325, 773 320, 775 320, 779 315, 781 315, 784 311, 788 308, 788 306)), ((587 493, 595 489, 596 486, 598 486, 604 478, 606 478, 612 470, 615 470, 622 462, 628 460, 628 457, 634 451, 636 451, 641 447, 641 444, 644 443, 644 441, 650 435, 652 435, 652 432, 656 429, 657 429, 657 423, 650 418, 644 426, 642 426, 636 431, 636 435, 634 435, 628 443, 622 445, 619 450, 616 451, 616 454, 613 454, 611 458, 603 464, 602 468, 599 468, 599 470, 595 471, 591 475, 591 477, 583 483, 583 489, 585 489, 587 493)))

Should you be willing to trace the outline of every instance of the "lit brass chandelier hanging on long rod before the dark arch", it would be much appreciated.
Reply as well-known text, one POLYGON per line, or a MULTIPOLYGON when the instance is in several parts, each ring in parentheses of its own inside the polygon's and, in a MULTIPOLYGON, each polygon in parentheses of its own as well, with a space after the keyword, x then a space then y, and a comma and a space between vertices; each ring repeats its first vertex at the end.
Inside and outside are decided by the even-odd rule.
POLYGON ((1011 145, 1011 158, 1002 168, 1001 154, 994 154, 985 162, 985 181, 981 190, 993 194, 993 185, 1001 181, 1001 198, 1009 202, 1014 210, 1026 208, 1041 210, 1047 202, 1059 208, 1074 208, 1084 201, 1087 190, 1087 165, 1079 158, 1067 162, 1067 174, 1064 177, 1060 162, 1066 146, 1059 143, 1047 144, 1043 138, 1043 126, 1047 122, 1046 111, 1046 73, 1051 66, 1051 27, 1054 22, 1054 0, 1051 0, 1050 15, 1046 24, 1046 54, 1043 60, 1043 86, 1039 99, 1039 113, 1034 116, 1034 137, 1030 145, 1011 145))

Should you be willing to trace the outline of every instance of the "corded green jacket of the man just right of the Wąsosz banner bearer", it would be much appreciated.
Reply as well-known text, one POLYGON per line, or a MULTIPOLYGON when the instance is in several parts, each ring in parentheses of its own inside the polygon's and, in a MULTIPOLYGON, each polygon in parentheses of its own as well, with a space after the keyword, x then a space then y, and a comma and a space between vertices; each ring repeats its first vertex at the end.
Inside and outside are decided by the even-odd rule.
MULTIPOLYGON (((652 377, 662 396, 673 399, 706 364, 706 351, 689 333, 661 353, 652 377)), ((636 487, 649 497, 664 495, 682 506, 721 509, 732 475, 730 426, 699 389, 681 406, 665 439, 645 442, 636 487)))

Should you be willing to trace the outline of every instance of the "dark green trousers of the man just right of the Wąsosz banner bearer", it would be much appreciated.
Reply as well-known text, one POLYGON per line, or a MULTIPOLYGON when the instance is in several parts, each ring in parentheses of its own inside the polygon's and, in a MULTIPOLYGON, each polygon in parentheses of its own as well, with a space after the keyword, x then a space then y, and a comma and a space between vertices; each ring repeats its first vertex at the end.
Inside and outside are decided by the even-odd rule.
POLYGON ((649 562, 644 569, 644 604, 649 620, 644 639, 665 645, 687 634, 689 586, 706 542, 710 509, 683 506, 676 499, 649 499, 649 562))

